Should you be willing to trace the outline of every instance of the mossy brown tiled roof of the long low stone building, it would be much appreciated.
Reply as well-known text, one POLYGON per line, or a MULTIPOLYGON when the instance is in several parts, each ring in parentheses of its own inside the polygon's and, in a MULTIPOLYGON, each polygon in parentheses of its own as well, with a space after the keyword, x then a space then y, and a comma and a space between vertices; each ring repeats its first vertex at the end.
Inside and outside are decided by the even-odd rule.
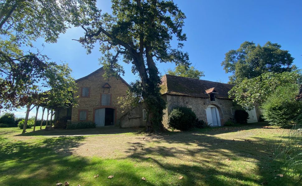
POLYGON ((218 92, 215 94, 216 98, 229 99, 229 90, 232 89, 234 85, 206 81, 201 79, 184 78, 179 76, 172 76, 165 74, 162 78, 161 94, 171 94, 171 95, 184 95, 192 97, 204 97, 209 96, 205 91, 218 92))

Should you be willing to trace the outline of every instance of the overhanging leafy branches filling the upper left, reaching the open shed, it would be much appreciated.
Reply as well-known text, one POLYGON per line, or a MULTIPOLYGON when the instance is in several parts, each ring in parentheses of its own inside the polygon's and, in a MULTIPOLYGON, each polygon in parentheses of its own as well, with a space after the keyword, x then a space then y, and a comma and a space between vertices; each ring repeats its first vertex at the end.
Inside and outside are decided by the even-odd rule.
POLYGON ((70 70, 65 71, 66 65, 48 62, 49 58, 33 43, 38 38, 56 42, 70 24, 79 26, 78 20, 87 19, 85 15, 95 5, 95 0, 81 3, 78 0, 0 0, 0 108, 12 110, 39 101, 45 103, 40 93, 47 89, 55 92, 54 97, 67 98, 67 94, 68 101, 73 99, 70 90, 74 80, 69 76, 70 70), (60 81, 57 72, 68 77, 60 81), (59 91, 52 84, 55 81, 61 85, 59 91), (62 86, 67 86, 64 95, 62 86))

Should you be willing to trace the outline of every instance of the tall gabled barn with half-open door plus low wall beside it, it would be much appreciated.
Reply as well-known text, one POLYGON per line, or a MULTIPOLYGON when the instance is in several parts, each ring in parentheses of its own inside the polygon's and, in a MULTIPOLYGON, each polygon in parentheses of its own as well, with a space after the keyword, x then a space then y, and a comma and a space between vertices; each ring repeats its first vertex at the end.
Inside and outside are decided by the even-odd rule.
POLYGON ((58 109, 57 118, 70 117, 71 122, 95 122, 96 126, 143 126, 146 113, 141 106, 123 112, 118 104, 118 97, 125 97, 130 85, 121 77, 105 79, 103 74, 101 67, 77 79, 74 96, 78 96, 78 105, 58 109))

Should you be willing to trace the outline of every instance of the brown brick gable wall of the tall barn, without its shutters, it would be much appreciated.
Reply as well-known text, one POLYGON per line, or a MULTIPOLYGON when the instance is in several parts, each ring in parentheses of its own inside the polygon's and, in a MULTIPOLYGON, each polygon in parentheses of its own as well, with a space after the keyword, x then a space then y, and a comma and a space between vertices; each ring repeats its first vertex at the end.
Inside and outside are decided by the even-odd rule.
POLYGON ((78 106, 72 108, 71 121, 78 121, 79 110, 87 110, 87 121, 94 122, 94 109, 97 108, 114 108, 116 109, 116 121, 115 125, 120 124, 120 118, 125 114, 121 112, 120 105, 117 103, 117 98, 120 96, 126 96, 126 90, 128 85, 122 79, 108 78, 104 79, 102 75, 104 70, 101 69, 96 73, 89 75, 87 78, 83 78, 77 81, 77 93, 74 96, 79 96, 78 106), (108 83, 111 88, 103 88, 105 83, 108 83), (81 88, 89 87, 89 96, 81 97, 81 88), (111 94, 111 105, 101 105, 101 94, 111 94))

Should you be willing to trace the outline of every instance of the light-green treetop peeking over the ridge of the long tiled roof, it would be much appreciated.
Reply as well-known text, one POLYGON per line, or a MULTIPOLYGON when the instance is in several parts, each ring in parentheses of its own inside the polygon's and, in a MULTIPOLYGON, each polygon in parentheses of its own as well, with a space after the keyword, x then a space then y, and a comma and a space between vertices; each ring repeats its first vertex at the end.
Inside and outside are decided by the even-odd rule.
POLYGON ((199 71, 195 69, 193 66, 188 67, 182 64, 177 65, 174 68, 174 70, 168 69, 167 73, 173 76, 181 76, 185 78, 194 78, 194 79, 200 79, 201 77, 205 76, 203 71, 199 71))

